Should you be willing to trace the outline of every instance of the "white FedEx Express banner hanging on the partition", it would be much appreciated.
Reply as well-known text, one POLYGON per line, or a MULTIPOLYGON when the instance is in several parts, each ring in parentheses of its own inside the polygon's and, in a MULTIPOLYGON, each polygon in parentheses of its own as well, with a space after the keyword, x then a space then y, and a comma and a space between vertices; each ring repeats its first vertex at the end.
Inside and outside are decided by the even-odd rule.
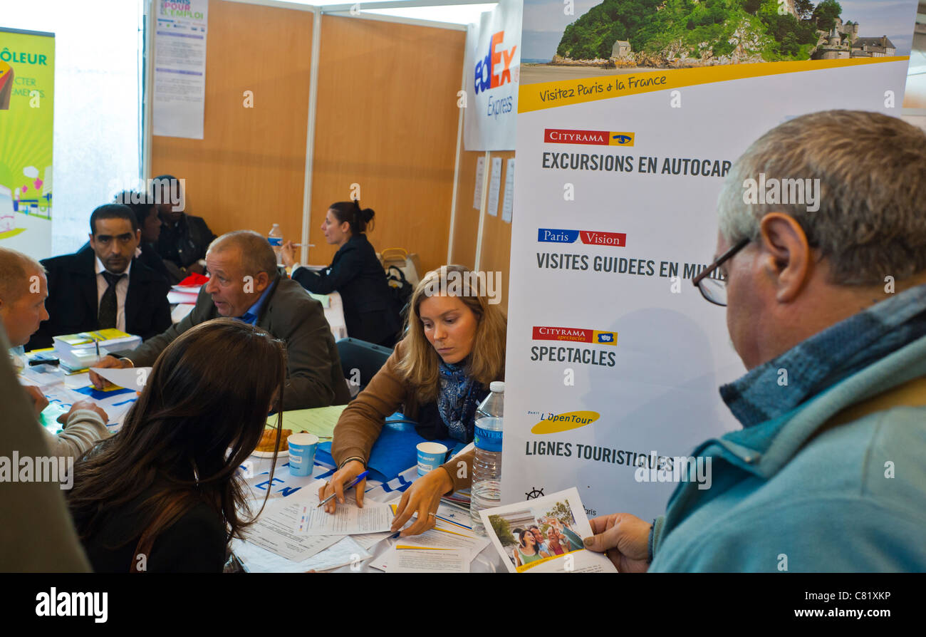
MULTIPOLYGON (((518 117, 521 0, 501 0, 466 36, 463 144, 466 150, 514 150, 518 117)), ((462 105, 461 105, 462 106, 462 105)))

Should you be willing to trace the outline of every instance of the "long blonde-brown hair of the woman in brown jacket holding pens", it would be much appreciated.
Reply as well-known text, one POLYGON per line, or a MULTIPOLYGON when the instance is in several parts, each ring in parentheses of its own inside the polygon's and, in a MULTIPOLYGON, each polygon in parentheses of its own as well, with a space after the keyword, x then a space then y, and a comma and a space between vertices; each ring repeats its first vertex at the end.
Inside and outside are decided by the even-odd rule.
MULTIPOLYGON (((490 273, 485 273, 488 274, 490 273)), ((466 374, 484 387, 488 387, 492 381, 505 378, 505 337, 508 322, 505 312, 498 305, 489 303, 483 283, 484 277, 479 281, 471 275, 471 270, 466 266, 450 265, 428 272, 415 288, 408 304, 405 356, 398 362, 398 370, 405 381, 418 388, 419 401, 434 400, 440 389, 440 357, 424 335, 419 307, 425 299, 435 294, 457 292, 455 287, 459 288, 458 292, 462 294, 451 295, 457 296, 469 307, 478 321, 472 351, 467 358, 466 374), (465 281, 465 284, 455 286, 455 278, 457 281, 465 281)))

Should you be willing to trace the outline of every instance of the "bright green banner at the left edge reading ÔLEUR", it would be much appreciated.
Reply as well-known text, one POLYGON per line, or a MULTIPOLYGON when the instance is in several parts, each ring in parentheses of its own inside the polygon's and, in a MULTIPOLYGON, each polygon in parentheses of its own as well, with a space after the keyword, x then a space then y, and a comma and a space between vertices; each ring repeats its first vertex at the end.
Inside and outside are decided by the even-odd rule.
POLYGON ((52 243, 55 34, 0 29, 0 246, 52 243))

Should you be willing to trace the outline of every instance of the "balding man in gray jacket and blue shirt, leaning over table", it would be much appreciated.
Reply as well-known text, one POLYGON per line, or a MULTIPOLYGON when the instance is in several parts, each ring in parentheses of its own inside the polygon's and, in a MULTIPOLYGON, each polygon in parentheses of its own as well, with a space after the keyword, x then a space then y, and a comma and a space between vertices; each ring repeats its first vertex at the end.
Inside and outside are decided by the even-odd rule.
MULTIPOLYGON (((102 368, 147 367, 184 331, 211 318, 231 317, 257 325, 286 343, 283 409, 344 405, 350 400, 341 358, 321 304, 302 286, 277 273, 277 256, 254 231, 221 235, 206 251, 211 279, 193 310, 138 349, 104 356, 102 368)), ((248 361, 240 361, 242 366, 248 361)), ((98 388, 105 381, 90 372, 98 388)))

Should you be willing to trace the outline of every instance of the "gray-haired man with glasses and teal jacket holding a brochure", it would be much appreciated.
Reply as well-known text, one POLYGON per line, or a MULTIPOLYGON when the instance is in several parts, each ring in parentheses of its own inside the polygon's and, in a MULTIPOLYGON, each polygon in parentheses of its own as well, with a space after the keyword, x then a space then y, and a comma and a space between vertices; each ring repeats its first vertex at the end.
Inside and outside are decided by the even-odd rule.
POLYGON ((587 547, 624 571, 926 570, 924 206, 926 134, 900 119, 814 113, 746 150, 694 279, 748 369, 720 387, 743 429, 694 450, 709 489, 594 518, 587 547))

